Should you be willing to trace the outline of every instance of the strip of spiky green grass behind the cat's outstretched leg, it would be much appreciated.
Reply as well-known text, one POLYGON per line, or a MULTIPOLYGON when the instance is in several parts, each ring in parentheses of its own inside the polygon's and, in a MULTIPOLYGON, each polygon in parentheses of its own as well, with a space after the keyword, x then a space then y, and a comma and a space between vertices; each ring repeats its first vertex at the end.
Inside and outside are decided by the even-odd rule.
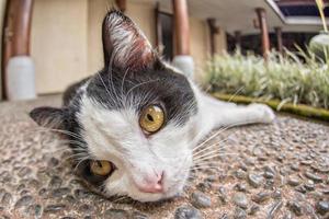
MULTIPOLYGON (((240 94, 283 103, 329 108, 329 58, 313 53, 272 51, 269 60, 256 55, 220 55, 209 60, 205 85, 211 92, 240 94)), ((280 106, 279 106, 280 108, 280 106)))

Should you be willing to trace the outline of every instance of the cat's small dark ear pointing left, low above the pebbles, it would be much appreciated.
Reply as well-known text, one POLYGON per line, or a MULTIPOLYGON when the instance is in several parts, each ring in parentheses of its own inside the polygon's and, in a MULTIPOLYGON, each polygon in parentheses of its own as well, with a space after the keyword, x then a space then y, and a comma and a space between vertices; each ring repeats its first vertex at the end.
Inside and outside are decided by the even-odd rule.
POLYGON ((66 110, 55 107, 37 107, 30 112, 30 116, 37 125, 46 128, 64 129, 66 110))

